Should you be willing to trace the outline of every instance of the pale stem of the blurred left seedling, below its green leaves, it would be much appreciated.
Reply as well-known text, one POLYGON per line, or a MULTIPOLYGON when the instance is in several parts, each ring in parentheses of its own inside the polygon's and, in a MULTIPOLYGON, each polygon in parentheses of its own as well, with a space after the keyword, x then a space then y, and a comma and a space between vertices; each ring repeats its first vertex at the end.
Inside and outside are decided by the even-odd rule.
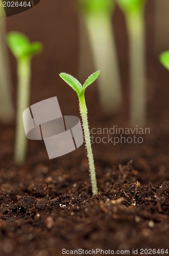
POLYGON ((25 132, 23 128, 22 113, 29 106, 30 101, 30 73, 31 60, 22 58, 17 63, 18 90, 17 90, 17 117, 16 117, 16 140, 14 159, 22 163, 26 155, 25 132))

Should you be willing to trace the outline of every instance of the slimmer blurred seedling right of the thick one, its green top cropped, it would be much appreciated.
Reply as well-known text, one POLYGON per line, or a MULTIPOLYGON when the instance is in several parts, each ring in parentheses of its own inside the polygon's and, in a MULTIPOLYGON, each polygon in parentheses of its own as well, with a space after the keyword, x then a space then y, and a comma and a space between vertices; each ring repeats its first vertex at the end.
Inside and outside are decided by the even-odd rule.
POLYGON ((146 46, 144 7, 146 0, 116 0, 128 30, 130 56, 130 122, 146 121, 146 46))

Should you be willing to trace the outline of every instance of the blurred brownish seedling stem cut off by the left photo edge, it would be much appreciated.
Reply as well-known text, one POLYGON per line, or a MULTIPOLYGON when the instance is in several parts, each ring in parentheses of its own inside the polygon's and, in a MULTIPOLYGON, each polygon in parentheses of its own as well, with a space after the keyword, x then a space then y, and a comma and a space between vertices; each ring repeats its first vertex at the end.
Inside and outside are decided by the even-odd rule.
POLYGON ((0 1, 0 119, 10 123, 14 117, 12 104, 11 76, 6 37, 6 17, 3 2, 0 1))

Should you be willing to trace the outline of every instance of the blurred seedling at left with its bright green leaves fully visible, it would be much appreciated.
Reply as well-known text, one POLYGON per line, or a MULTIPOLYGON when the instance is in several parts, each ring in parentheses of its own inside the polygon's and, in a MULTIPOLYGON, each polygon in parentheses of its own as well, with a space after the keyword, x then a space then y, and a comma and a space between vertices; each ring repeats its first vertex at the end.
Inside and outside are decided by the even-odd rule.
POLYGON ((23 129, 22 113, 30 103, 31 59, 42 50, 40 42, 30 43, 29 38, 19 32, 7 35, 7 44, 17 60, 17 117, 15 155, 16 163, 22 163, 26 154, 26 137, 23 129))

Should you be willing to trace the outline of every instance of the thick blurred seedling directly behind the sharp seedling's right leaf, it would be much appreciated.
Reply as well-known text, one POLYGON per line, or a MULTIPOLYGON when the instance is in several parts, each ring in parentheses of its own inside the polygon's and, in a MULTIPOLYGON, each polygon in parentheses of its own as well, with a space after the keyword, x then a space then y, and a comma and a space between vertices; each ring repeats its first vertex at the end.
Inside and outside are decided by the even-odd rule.
MULTIPOLYGON (((116 112, 122 103, 122 92, 111 22, 115 1, 76 0, 76 3, 79 18, 83 18, 87 30, 94 66, 102 71, 98 81, 102 108, 108 114, 116 112)), ((83 56, 86 56, 86 53, 83 56)), ((83 63, 83 66, 87 65, 88 63, 83 63)))

